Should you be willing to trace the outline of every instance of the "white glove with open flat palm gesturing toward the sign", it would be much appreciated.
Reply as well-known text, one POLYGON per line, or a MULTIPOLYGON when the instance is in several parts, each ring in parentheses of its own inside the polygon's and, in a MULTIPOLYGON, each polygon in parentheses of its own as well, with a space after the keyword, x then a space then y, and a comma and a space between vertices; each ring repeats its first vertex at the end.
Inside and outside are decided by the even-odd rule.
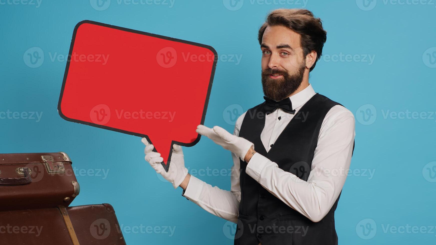
MULTIPOLYGON (((213 129, 204 125, 198 125, 195 130, 198 134, 210 138, 215 144, 221 145, 224 149, 232 151, 238 158, 244 161, 245 155, 254 144, 242 137, 227 132, 224 128, 215 126, 213 129)), ((171 166, 171 165, 170 165, 171 166)))

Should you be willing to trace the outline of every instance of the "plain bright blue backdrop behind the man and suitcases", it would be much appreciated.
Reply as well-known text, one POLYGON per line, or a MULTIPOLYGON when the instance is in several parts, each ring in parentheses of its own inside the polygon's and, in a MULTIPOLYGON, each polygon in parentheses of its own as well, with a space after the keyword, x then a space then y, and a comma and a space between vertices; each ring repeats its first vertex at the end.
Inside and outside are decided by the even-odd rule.
MULTIPOLYGON (((348 176, 342 191, 336 211, 339 244, 434 244, 435 229, 415 234, 411 228, 395 232, 386 227, 401 231, 406 225, 436 225, 436 116, 431 113, 436 3, 385 1, 363 5, 360 0, 294 4, 245 0, 232 8, 228 0, 175 0, 172 6, 168 1, 134 5, 112 0, 99 8, 93 0, 42 0, 38 6, 1 0, 5 4, 0 5, 0 111, 43 113, 40 121, 0 119, 1 152, 65 151, 80 170, 76 175, 82 191, 73 205, 110 203, 124 227, 175 226, 173 235, 123 230, 129 245, 233 244, 224 219, 202 210, 181 196, 181 188, 158 178, 144 161, 140 138, 61 119, 57 104, 66 62, 51 57, 68 54, 73 28, 81 20, 208 44, 218 55, 241 57, 239 63, 218 60, 205 120, 209 127, 233 131, 232 118, 237 115, 226 111, 237 108, 242 114, 262 101, 256 35, 266 13, 307 8, 327 30, 324 56, 310 73, 310 83, 356 117, 351 170, 360 174, 348 176), (44 54, 44 62, 35 68, 26 60, 33 47, 44 54), (337 60, 335 55, 355 58, 337 60), (407 111, 422 117, 385 115, 407 111), (106 178, 97 174, 102 170, 109 171, 106 178)), ((184 154, 189 169, 227 171, 232 166, 230 153, 207 138, 184 148, 184 154)), ((197 177, 230 189, 228 175, 197 177)))

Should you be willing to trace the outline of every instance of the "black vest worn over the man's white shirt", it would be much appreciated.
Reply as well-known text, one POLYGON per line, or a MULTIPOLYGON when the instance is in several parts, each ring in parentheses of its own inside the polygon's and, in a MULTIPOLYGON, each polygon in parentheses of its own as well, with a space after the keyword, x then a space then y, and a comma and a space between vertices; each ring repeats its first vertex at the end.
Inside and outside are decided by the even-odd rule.
MULTIPOLYGON (((279 168, 307 181, 321 124, 330 108, 337 104, 324 95, 313 95, 268 152, 260 139, 265 112, 263 103, 259 104, 245 114, 239 137, 253 142, 255 151, 278 164, 279 168)), ((334 211, 339 197, 320 222, 312 222, 247 175, 245 161, 240 164, 241 202, 235 245, 258 245, 259 242, 262 245, 337 245, 334 211)))

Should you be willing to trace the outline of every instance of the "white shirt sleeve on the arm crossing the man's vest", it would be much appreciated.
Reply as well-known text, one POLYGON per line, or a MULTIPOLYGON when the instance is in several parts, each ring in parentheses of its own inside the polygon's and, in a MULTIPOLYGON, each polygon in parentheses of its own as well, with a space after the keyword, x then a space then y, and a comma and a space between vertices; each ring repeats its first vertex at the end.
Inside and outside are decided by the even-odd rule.
POLYGON ((279 168, 259 153, 246 173, 286 205, 319 222, 341 193, 350 168, 355 136, 354 115, 335 105, 324 117, 307 181, 279 168))

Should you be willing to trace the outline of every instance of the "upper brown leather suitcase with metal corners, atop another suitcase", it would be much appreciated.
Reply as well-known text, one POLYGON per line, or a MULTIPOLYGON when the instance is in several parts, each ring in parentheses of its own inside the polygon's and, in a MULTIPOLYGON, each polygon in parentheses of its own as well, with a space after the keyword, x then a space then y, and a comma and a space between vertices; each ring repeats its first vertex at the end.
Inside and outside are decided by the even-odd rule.
POLYGON ((64 152, 0 154, 0 211, 67 207, 80 192, 64 152))

